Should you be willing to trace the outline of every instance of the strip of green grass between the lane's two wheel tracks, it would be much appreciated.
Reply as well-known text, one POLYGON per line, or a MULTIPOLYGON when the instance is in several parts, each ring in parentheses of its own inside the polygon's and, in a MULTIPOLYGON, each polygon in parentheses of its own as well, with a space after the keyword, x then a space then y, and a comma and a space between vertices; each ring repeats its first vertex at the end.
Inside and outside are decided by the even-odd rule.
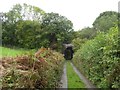
POLYGON ((84 83, 81 81, 79 76, 73 70, 70 61, 66 62, 66 67, 67 67, 68 88, 85 88, 84 83))

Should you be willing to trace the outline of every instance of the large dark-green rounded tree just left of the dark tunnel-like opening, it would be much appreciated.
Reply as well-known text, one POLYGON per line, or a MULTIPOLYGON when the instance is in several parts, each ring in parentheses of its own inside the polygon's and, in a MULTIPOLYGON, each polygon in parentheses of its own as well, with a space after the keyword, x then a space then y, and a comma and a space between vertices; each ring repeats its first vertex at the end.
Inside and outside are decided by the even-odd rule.
POLYGON ((46 13, 42 17, 43 36, 52 49, 58 49, 62 46, 62 43, 71 41, 72 27, 73 24, 70 20, 57 13, 46 13))

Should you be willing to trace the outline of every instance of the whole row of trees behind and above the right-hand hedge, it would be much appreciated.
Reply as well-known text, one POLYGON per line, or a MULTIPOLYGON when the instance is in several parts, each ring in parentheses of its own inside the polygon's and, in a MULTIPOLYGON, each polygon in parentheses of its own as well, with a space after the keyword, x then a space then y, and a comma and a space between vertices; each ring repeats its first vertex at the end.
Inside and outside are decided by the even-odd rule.
POLYGON ((106 11, 101 13, 93 23, 93 27, 86 27, 74 33, 72 43, 75 50, 79 49, 87 40, 93 39, 100 32, 107 33, 110 28, 118 24, 118 13, 114 11, 106 11))

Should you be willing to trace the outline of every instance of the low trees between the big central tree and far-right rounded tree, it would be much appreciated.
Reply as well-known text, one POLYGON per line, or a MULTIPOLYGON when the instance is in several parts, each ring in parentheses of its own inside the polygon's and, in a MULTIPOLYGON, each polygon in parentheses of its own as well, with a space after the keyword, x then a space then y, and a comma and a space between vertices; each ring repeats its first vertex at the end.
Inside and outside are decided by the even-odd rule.
POLYGON ((72 44, 74 45, 74 50, 77 51, 80 49, 81 45, 86 41, 93 39, 96 36, 97 32, 94 28, 86 27, 82 30, 74 32, 74 39, 72 40, 72 44))

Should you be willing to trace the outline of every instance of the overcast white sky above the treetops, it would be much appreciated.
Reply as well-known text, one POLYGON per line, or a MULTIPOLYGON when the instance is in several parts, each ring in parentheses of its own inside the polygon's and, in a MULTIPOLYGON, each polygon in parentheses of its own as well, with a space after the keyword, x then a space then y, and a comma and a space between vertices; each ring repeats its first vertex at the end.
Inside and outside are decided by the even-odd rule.
POLYGON ((117 11, 120 0, 1 0, 0 12, 7 12, 15 4, 30 4, 45 12, 56 12, 73 22, 74 29, 91 27, 104 11, 117 11))

